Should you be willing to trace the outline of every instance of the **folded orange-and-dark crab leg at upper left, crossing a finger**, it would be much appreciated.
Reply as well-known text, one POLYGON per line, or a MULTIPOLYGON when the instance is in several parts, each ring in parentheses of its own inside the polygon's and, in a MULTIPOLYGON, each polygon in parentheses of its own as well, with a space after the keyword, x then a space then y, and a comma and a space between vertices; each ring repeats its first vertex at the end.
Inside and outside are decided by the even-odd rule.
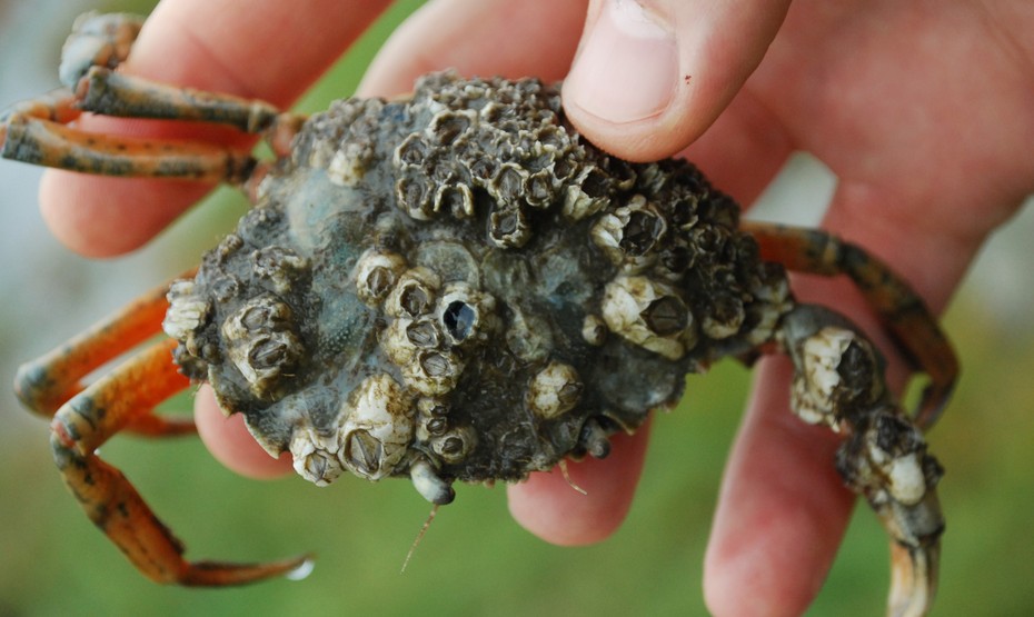
POLYGON ((89 133, 67 125, 81 111, 123 118, 187 120, 264 133, 285 155, 305 116, 258 100, 201 92, 121 76, 139 32, 131 16, 88 16, 76 24, 61 64, 64 90, 19 103, 0 116, 0 156, 33 165, 106 176, 180 178, 240 185, 256 160, 213 143, 160 141, 89 133))

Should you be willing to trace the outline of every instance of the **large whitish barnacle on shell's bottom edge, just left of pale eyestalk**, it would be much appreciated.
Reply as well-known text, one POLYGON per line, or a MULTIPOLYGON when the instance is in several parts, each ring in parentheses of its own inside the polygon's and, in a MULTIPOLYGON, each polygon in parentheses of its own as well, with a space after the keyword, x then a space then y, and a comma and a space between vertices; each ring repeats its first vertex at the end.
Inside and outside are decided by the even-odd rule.
POLYGON ((390 375, 371 375, 348 395, 338 458, 357 476, 379 480, 395 471, 412 434, 412 396, 390 375))

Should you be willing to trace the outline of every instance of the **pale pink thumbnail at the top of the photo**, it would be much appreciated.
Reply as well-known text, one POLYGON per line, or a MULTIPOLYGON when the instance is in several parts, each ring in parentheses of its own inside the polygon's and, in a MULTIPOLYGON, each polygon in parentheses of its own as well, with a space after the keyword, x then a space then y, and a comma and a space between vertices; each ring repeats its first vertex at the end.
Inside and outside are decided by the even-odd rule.
POLYGON ((635 0, 607 0, 567 76, 568 105, 617 123, 664 111, 675 94, 675 36, 635 0))

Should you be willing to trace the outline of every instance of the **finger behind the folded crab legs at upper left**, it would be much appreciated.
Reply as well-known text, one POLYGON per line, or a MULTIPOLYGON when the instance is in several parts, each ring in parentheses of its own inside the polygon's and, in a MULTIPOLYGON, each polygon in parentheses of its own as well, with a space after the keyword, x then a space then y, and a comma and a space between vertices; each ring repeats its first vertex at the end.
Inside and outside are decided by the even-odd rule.
MULTIPOLYGON (((387 3, 261 0, 241 10, 229 0, 161 2, 122 70, 285 106, 308 88, 387 3)), ((169 122, 83 118, 81 126, 153 138, 216 135, 228 139, 227 131, 185 130, 169 122)), ((146 242, 209 188, 49 171, 40 188, 40 206, 54 236, 71 249, 88 256, 111 256, 146 242)))

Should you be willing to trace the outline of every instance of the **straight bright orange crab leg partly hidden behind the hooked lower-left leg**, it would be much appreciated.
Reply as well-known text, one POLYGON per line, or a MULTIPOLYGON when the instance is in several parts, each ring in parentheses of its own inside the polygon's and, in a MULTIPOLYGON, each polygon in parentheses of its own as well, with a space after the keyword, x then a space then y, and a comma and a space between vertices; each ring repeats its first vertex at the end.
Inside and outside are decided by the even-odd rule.
MULTIPOLYGON (((86 332, 22 365, 14 379, 18 398, 37 414, 53 416, 61 405, 82 391, 82 378, 161 331, 169 306, 168 289, 168 285, 156 287, 86 332)), ((166 436, 192 434, 195 428, 189 419, 163 418, 148 411, 138 414, 129 430, 166 436)))

